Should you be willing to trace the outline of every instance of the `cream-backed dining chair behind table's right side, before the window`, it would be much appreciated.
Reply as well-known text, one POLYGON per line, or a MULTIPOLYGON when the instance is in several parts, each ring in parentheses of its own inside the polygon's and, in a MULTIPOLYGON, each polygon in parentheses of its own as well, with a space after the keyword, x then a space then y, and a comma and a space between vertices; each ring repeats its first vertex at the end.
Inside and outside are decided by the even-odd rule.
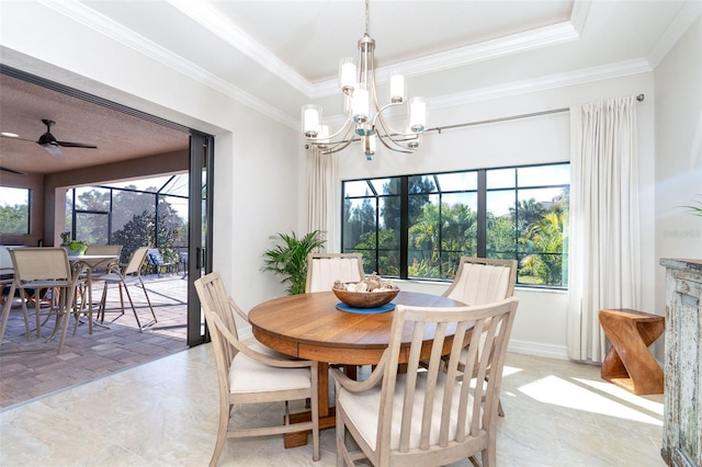
MULTIPOLYGON (((461 257, 456 276, 443 296, 471 306, 484 305, 513 296, 516 282, 516 260, 461 257)), ((505 417, 499 399, 497 412, 505 417)))

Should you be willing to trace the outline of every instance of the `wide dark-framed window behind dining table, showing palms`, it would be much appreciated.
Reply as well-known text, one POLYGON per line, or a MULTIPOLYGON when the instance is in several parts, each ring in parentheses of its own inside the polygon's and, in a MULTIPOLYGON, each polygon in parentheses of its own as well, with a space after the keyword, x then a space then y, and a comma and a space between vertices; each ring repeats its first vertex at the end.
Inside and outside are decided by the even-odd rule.
POLYGON ((454 277, 462 255, 514 259, 518 284, 567 286, 569 164, 353 180, 342 251, 390 277, 454 277))

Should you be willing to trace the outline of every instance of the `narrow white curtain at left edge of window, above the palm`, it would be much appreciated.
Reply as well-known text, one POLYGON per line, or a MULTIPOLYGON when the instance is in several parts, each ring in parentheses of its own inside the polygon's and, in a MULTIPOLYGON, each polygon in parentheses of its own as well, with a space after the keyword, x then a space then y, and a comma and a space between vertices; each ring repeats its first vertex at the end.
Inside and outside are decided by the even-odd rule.
POLYGON ((336 179, 336 155, 322 155, 310 145, 307 149, 307 231, 326 232, 327 249, 335 232, 336 179))

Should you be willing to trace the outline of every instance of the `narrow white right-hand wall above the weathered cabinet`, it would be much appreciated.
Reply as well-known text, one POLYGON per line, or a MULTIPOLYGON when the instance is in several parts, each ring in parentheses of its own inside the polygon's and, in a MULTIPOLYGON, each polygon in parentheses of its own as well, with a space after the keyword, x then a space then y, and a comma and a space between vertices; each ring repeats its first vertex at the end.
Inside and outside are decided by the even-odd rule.
MULTIPOLYGON (((681 206, 702 202, 702 16, 655 70, 656 310, 665 310, 661 258, 702 258, 702 217, 681 206)), ((656 348, 663 360, 663 345, 656 348)))

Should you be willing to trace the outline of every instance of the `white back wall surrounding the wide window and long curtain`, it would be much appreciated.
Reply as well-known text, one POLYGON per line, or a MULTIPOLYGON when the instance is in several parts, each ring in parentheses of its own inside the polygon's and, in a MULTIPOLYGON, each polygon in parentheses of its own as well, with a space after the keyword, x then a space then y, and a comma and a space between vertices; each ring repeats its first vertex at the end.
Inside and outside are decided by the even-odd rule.
MULTIPOLYGON (((438 84, 440 86, 440 84, 438 84)), ((653 212, 646 209, 653 203, 654 185, 654 118, 653 73, 571 86, 548 91, 514 95, 508 99, 476 102, 446 109, 432 109, 429 127, 478 122, 484 119, 522 115, 573 105, 643 93, 644 102, 637 104, 638 173, 642 189, 642 303, 653 304, 654 287, 654 224, 653 212)), ((389 152, 381 148, 372 162, 365 161, 358 146, 339 153, 339 179, 387 176, 467 170, 503 166, 519 166, 569 160, 569 113, 562 112, 501 123, 468 126, 430 133, 415 155, 389 152)), ((340 239, 333 240, 335 249, 340 239)), ((446 285, 404 283, 403 288, 441 294, 446 285)), ((510 350, 534 355, 567 358, 566 308, 567 292, 543 292, 518 287, 514 294, 519 309, 510 339, 510 350)), ((655 312, 652 307, 649 312, 655 312)))

